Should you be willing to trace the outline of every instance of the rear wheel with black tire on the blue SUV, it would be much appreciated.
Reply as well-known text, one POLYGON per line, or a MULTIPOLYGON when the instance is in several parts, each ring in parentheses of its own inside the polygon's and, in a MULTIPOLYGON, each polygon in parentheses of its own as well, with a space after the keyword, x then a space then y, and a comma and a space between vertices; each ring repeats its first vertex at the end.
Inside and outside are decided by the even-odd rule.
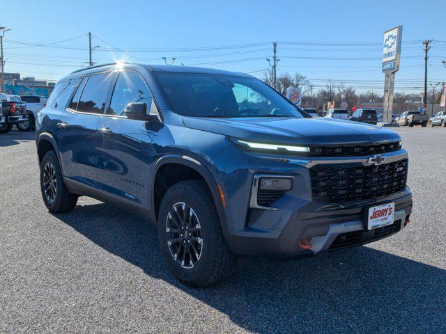
POLYGON ((48 151, 40 163, 40 190, 50 212, 69 212, 76 206, 77 197, 70 193, 62 179, 56 152, 48 151))

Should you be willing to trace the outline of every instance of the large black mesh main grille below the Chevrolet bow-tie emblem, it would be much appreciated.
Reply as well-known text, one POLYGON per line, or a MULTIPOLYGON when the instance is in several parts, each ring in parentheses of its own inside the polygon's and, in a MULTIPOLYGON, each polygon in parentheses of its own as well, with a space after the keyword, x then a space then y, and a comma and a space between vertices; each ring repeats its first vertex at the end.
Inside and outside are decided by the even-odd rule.
POLYGON ((406 188, 407 168, 407 159, 379 166, 314 166, 310 169, 313 200, 343 203, 403 191, 406 188))

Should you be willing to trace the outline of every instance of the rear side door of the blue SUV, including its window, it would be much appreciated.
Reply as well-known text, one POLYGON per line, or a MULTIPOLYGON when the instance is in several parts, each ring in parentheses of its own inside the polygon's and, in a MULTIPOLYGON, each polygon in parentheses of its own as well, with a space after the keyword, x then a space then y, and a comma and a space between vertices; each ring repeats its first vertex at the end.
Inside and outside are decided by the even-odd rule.
POLYGON ((72 180, 97 188, 98 133, 105 111, 112 72, 91 74, 82 78, 72 97, 63 122, 58 123, 59 150, 63 172, 72 180))

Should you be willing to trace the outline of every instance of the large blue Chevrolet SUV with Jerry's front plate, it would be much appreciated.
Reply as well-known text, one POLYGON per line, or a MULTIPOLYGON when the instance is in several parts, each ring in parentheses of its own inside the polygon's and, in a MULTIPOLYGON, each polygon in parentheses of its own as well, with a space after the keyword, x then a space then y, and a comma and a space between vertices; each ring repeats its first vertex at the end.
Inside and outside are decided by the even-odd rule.
POLYGON ((237 255, 308 257, 388 237, 412 209, 397 133, 312 118, 247 74, 77 70, 36 129, 49 211, 90 196, 147 218, 190 285, 222 280, 237 255))

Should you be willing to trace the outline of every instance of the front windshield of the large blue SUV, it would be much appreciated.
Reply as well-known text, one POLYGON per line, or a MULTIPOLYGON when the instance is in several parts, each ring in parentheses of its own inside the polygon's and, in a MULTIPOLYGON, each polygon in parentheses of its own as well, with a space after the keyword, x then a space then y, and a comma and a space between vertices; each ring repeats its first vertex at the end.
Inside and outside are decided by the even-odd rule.
POLYGON ((171 109, 199 117, 298 117, 302 114, 259 79, 154 72, 171 109))

